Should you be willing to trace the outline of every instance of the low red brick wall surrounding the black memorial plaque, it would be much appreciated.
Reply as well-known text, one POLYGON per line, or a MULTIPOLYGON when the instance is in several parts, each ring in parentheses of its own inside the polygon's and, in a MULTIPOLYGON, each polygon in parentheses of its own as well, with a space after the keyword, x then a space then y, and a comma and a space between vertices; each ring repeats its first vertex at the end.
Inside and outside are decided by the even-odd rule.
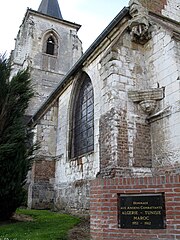
POLYGON ((180 175, 144 178, 96 179, 91 183, 92 240, 180 239, 180 175), (165 229, 118 227, 118 194, 164 193, 165 229))

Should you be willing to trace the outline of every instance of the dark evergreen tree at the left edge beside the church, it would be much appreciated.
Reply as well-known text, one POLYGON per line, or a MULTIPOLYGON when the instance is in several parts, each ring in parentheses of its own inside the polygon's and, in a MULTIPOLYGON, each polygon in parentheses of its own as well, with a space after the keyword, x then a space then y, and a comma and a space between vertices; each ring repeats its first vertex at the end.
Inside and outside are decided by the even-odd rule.
POLYGON ((32 134, 25 110, 33 96, 29 70, 10 80, 10 61, 0 57, 0 220, 9 219, 24 201, 24 184, 31 167, 32 134))

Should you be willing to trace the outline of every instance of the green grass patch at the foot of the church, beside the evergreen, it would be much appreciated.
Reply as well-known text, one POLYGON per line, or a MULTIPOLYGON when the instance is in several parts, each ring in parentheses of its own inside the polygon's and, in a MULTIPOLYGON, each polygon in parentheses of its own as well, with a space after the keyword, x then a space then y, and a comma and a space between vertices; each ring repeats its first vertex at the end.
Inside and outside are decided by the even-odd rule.
POLYGON ((80 222, 76 217, 44 210, 20 209, 17 213, 34 221, 1 225, 0 240, 67 240, 68 231, 80 222))

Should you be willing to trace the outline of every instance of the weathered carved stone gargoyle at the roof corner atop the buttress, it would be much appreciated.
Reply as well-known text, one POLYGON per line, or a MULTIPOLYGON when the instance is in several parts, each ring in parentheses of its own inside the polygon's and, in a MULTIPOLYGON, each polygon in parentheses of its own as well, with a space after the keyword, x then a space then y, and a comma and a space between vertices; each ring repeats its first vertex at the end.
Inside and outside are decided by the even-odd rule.
POLYGON ((129 20, 131 40, 139 44, 145 44, 151 39, 151 24, 147 18, 148 12, 138 0, 130 0, 129 5, 129 13, 132 16, 132 19, 129 20))

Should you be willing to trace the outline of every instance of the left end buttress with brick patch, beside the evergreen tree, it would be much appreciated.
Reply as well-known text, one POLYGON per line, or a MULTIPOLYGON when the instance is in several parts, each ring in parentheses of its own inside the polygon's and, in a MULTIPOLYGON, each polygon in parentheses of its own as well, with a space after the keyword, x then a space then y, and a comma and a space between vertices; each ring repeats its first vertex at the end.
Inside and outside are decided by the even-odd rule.
POLYGON ((28 179, 30 208, 54 207, 57 113, 57 103, 55 103, 36 126, 39 148, 28 179))

